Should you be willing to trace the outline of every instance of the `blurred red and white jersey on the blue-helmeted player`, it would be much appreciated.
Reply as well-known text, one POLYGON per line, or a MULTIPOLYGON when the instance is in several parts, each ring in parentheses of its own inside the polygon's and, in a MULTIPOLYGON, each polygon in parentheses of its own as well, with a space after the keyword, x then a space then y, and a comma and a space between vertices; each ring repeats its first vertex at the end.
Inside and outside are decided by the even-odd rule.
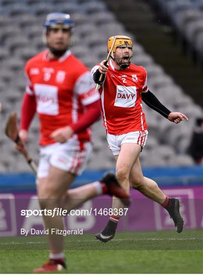
MULTIPOLYGON (((88 68, 70 50, 54 60, 44 50, 30 59, 25 67, 26 92, 34 95, 40 120, 40 145, 55 143, 49 135, 54 130, 77 122, 85 106, 99 99, 88 68)), ((90 128, 78 133, 79 141, 90 140, 90 128)))

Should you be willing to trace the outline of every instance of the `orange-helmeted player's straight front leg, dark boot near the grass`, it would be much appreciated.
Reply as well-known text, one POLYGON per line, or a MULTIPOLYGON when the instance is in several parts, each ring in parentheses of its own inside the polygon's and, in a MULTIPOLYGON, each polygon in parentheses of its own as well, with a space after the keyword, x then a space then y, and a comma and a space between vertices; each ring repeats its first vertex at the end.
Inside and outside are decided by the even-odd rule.
MULTIPOLYGON (((116 177, 120 182, 120 185, 129 194, 130 184, 129 175, 136 159, 140 154, 141 147, 138 144, 124 143, 121 145, 121 150, 118 156, 115 156, 116 162, 116 177)), ((123 208, 123 204, 117 199, 113 198, 112 209, 123 208)), ((119 211, 118 211, 119 212, 119 211)), ((107 226, 95 235, 95 238, 107 242, 113 239, 117 224, 119 221, 119 215, 114 213, 110 216, 107 226)))

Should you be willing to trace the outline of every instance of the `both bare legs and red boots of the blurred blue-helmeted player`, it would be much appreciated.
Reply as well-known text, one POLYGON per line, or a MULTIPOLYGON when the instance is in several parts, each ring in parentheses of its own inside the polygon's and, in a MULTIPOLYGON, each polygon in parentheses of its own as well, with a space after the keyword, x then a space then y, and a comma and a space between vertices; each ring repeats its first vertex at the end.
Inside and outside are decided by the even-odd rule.
MULTIPOLYGON (((129 196, 120 187, 114 174, 109 173, 100 181, 67 191, 74 178, 75 175, 50 166, 48 177, 38 179, 38 197, 41 209, 62 208, 70 211, 87 200, 102 194, 116 195, 126 205, 129 205, 129 196), (66 195, 64 196, 64 194, 66 195)), ((46 229, 49 230, 49 261, 42 267, 35 269, 34 272, 62 270, 66 268, 63 235, 52 232, 53 228, 56 229, 54 232, 57 232, 57 229, 63 230, 62 216, 44 215, 43 219, 46 229)))

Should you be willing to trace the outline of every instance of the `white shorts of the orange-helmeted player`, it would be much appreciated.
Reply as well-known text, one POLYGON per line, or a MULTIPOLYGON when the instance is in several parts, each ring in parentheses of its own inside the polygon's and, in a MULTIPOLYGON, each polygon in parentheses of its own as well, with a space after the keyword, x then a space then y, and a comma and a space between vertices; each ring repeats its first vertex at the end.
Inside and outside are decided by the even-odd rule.
POLYGON ((112 151, 112 154, 114 156, 119 155, 120 153, 120 147, 123 143, 135 143, 139 144, 141 148, 143 148, 146 144, 148 131, 135 131, 135 132, 129 132, 125 134, 107 134, 107 141, 109 144, 109 149, 112 151))

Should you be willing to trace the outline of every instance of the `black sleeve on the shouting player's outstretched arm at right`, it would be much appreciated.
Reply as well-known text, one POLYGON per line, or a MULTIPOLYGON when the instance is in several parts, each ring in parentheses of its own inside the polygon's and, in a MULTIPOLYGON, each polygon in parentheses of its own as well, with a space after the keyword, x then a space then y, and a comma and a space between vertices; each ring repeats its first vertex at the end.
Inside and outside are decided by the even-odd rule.
POLYGON ((142 101, 165 118, 168 118, 168 115, 171 113, 171 111, 167 109, 150 91, 142 93, 142 101))

